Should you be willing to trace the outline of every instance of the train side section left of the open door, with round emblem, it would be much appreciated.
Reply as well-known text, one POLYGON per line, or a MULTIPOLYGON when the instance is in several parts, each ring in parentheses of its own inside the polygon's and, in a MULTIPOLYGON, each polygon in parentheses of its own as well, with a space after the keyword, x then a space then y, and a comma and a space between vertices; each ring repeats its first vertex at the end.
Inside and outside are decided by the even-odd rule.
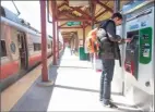
POLYGON ((5 23, 1 23, 1 88, 4 88, 5 85, 15 80, 15 74, 20 71, 19 50, 16 49, 17 41, 14 36, 15 30, 13 27, 10 27, 5 23))

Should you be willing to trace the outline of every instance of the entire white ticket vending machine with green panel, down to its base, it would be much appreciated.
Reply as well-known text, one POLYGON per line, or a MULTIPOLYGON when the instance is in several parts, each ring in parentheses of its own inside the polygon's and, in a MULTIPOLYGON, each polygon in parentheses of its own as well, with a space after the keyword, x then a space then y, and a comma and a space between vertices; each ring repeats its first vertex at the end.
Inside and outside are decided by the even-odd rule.
POLYGON ((123 49, 124 95, 132 89, 130 92, 134 103, 138 105, 144 103, 148 111, 148 108, 153 109, 154 101, 154 4, 145 3, 123 14, 126 16, 123 37, 131 38, 123 49))

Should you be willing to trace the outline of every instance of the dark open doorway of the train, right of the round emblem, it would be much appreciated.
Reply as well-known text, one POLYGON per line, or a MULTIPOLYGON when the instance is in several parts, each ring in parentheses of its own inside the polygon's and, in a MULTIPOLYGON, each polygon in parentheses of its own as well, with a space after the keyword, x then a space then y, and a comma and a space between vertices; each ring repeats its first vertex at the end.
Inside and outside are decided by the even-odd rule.
POLYGON ((24 33, 17 34, 17 41, 19 41, 19 52, 20 52, 20 61, 21 61, 21 69, 27 69, 27 46, 26 46, 26 35, 24 33))

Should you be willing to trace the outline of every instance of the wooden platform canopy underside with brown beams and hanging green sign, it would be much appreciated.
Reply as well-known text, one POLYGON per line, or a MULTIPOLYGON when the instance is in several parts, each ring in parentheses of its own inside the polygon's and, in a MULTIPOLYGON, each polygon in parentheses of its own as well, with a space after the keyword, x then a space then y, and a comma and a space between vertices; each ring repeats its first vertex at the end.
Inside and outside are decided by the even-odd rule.
MULTIPOLYGON (((120 9, 131 1, 120 0, 120 9)), ((59 22, 62 37, 71 38, 76 32, 81 34, 83 27, 91 29, 92 25, 109 18, 114 13, 115 0, 50 0, 48 5, 50 15, 55 13, 59 22), (52 4, 55 11, 51 10, 52 4)))

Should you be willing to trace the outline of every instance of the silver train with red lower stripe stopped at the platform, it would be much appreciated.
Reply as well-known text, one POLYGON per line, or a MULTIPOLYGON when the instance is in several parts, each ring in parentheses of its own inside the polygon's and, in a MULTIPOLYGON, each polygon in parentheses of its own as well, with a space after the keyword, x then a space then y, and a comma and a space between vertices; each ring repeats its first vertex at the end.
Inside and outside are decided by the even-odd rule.
MULTIPOLYGON (((41 61, 40 33, 1 7, 0 88, 5 89, 41 61)), ((59 42, 61 45, 61 42, 59 42)), ((47 55, 52 54, 47 36, 47 55)))

